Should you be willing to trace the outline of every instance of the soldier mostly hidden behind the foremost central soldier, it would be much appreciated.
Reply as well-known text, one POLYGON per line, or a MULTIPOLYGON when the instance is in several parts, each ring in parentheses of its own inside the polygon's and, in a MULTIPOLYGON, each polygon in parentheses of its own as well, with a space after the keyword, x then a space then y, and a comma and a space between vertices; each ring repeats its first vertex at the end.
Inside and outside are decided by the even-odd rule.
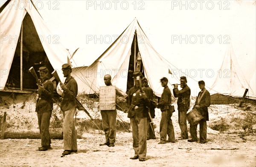
MULTIPOLYGON (((143 89, 143 91, 145 92, 145 94, 148 96, 149 100, 153 100, 153 90, 148 86, 148 80, 147 78, 143 77, 142 81, 142 86, 144 86, 145 88, 143 89)), ((155 107, 152 103, 150 103, 150 107, 149 107, 149 112, 150 112, 150 116, 153 119, 155 117, 155 107)), ((154 127, 151 127, 151 119, 150 116, 148 114, 148 122, 147 122, 147 127, 148 127, 148 132, 147 132, 147 140, 149 139, 156 139, 156 136, 154 134, 154 127)))

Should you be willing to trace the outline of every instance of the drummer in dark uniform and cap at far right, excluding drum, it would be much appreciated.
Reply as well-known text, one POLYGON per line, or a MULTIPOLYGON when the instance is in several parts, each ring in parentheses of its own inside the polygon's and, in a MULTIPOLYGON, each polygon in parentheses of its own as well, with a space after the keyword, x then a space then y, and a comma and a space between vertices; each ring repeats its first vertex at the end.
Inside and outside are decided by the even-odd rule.
MULTIPOLYGON (((198 112, 201 113, 201 115, 204 117, 201 119, 199 125, 200 125, 200 143, 204 144, 207 142, 206 137, 207 137, 207 123, 206 121, 209 121, 209 113, 208 113, 208 107, 210 106, 210 94, 209 92, 205 89, 205 83, 204 81, 198 81, 199 88, 201 89, 201 92, 198 93, 198 97, 196 98, 195 101, 195 106, 193 109, 197 109, 198 112)), ((189 142, 194 142, 198 141, 197 137, 197 124, 194 126, 190 125, 190 135, 191 139, 189 139, 189 142)))

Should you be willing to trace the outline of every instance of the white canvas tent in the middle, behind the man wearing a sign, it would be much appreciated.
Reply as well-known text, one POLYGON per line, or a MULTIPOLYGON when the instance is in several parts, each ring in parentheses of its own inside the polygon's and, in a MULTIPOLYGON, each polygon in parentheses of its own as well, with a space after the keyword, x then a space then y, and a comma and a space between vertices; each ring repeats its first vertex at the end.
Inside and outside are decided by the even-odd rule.
POLYGON ((137 58, 135 57, 138 52, 140 52, 143 66, 140 71, 148 79, 148 85, 155 95, 160 97, 163 92, 160 78, 169 78, 169 83, 172 83, 174 78, 169 74, 171 70, 168 63, 153 48, 136 18, 90 66, 73 70, 72 75, 78 82, 79 92, 98 93, 99 87, 105 86, 103 78, 106 74, 111 75, 113 85, 126 92, 128 81, 133 80, 131 76, 136 69, 137 58))

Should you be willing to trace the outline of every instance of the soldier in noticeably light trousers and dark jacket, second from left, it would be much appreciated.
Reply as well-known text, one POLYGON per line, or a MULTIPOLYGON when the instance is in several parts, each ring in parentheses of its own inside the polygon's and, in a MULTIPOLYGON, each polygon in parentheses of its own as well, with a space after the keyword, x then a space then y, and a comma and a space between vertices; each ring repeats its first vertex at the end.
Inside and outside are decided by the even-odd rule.
POLYGON ((68 155, 77 152, 76 126, 74 115, 76 113, 76 95, 78 91, 76 80, 71 76, 72 68, 69 64, 62 65, 62 71, 66 80, 61 84, 63 90, 61 98, 61 110, 64 117, 63 121, 63 143, 64 152, 68 155))

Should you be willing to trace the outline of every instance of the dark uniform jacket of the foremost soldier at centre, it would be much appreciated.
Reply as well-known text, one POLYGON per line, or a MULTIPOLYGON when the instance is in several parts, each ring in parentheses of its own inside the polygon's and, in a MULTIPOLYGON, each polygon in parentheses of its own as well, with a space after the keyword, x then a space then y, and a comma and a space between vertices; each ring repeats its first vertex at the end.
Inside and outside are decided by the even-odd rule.
POLYGON ((148 98, 143 99, 140 96, 140 88, 139 87, 132 87, 128 92, 129 97, 129 105, 130 109, 128 111, 128 118, 134 117, 147 117, 148 116, 148 109, 150 107, 150 101, 148 98), (134 96, 135 95, 135 96, 134 96), (135 106, 138 106, 137 109, 134 109, 135 106))

